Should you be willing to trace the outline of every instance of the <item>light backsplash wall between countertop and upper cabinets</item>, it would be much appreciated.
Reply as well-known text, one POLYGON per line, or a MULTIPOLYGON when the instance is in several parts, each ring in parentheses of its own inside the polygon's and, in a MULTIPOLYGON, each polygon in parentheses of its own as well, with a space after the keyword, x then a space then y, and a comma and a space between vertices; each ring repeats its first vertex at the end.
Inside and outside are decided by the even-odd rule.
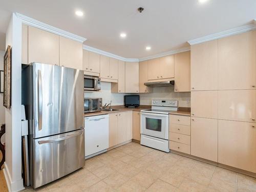
MULTIPOLYGON (((112 100, 112 105, 123 105, 124 95, 136 95, 129 93, 111 93, 111 83, 101 82, 101 91, 84 92, 84 97, 100 97, 102 103, 109 103, 112 100)), ((176 93, 174 87, 153 88, 152 93, 140 93, 140 104, 151 105, 152 99, 174 99, 179 101, 179 106, 190 108, 190 92, 176 93)))

